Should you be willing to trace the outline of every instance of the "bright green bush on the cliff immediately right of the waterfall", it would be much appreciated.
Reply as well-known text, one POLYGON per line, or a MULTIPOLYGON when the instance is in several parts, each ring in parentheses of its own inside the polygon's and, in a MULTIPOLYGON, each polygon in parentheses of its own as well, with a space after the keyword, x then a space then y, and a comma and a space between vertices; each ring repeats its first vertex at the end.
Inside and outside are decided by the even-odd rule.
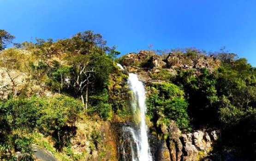
POLYGON ((147 115, 153 122, 169 119, 182 130, 189 129, 188 103, 183 95, 184 92, 172 83, 153 84, 147 99, 147 115))

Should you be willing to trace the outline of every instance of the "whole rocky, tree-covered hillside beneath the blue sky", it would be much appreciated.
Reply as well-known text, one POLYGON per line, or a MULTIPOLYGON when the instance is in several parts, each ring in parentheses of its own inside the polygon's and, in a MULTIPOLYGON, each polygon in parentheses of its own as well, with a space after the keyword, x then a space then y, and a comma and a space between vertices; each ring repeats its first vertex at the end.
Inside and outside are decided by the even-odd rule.
POLYGON ((140 140, 127 129, 143 121, 152 161, 256 159, 256 68, 246 59, 193 48, 118 57, 106 43, 85 31, 1 45, 0 160, 133 161, 140 140), (140 116, 129 73, 143 82, 140 116))

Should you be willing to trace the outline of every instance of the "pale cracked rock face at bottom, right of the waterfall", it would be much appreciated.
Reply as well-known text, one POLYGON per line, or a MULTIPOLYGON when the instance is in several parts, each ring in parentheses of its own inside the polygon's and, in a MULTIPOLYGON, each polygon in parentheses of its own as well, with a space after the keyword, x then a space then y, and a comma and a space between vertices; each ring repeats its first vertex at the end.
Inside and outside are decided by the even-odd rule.
MULTIPOLYGON (((173 121, 170 122, 167 130, 168 138, 160 147, 161 156, 157 161, 199 161, 208 155, 212 150, 213 142, 218 138, 216 131, 209 134, 197 130, 193 133, 181 134, 173 121)), ((166 133, 166 130, 164 131, 166 133)))

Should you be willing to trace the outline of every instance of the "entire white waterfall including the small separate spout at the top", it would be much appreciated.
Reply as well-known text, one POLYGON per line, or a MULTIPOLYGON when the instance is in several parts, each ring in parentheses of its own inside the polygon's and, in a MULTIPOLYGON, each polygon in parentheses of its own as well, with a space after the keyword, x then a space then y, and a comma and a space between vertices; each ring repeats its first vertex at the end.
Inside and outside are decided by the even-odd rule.
MULTIPOLYGON (((124 68, 117 63, 122 70, 124 68)), ((136 74, 130 73, 128 78, 129 88, 132 90, 131 108, 134 116, 134 122, 139 126, 123 127, 123 142, 121 144, 122 160, 126 161, 125 147, 129 147, 131 161, 152 161, 150 153, 147 125, 145 121, 146 113, 146 95, 143 83, 139 81, 136 74)), ((128 152, 128 153, 129 153, 128 152)), ((130 159, 129 159, 130 160, 130 159)))

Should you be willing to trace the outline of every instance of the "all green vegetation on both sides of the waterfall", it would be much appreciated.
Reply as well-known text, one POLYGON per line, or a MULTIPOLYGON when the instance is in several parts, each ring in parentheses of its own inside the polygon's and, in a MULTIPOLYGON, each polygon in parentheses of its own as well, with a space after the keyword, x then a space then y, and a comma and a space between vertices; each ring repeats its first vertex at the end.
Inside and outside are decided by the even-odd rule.
MULTIPOLYGON (((115 63, 119 52, 92 31, 57 41, 36 39, 5 49, 12 39, 14 36, 0 30, 0 69, 6 77, 0 83, 8 83, 0 93, 0 160, 17 160, 17 151, 23 160, 33 160, 31 144, 50 150, 61 160, 78 161, 93 150, 103 158, 106 151, 99 131, 87 136, 89 150, 82 154, 74 153, 71 139, 77 132, 76 123, 84 117, 129 120, 127 73, 115 63)), ((147 84, 147 115, 156 133, 170 120, 183 132, 218 129, 221 141, 213 150, 255 159, 256 68, 224 51, 210 53, 212 62, 203 67, 196 63, 210 58, 204 51, 172 52, 154 58, 164 64, 158 70, 152 51, 144 61, 131 64, 161 80, 147 84), (215 59, 219 65, 214 64, 215 59)), ((124 60, 125 56, 117 61, 124 60)))

